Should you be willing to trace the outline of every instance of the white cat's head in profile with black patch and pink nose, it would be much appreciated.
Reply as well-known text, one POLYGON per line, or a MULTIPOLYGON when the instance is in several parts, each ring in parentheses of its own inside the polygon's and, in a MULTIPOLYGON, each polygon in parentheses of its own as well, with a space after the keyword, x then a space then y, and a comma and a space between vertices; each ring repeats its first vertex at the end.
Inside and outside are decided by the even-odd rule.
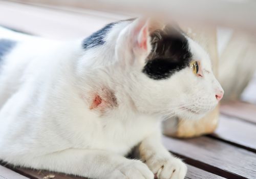
POLYGON ((198 119, 221 100, 208 54, 179 28, 135 19, 107 29, 104 42, 114 54, 109 73, 138 111, 198 119))

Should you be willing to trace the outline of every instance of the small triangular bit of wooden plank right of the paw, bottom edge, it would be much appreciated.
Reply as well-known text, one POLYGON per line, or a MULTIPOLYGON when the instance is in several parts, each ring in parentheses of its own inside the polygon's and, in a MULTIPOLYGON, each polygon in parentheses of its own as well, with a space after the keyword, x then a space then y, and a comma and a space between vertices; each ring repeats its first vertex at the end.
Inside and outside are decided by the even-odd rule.
POLYGON ((209 173, 202 169, 187 165, 187 175, 186 179, 224 179, 221 176, 218 176, 213 173, 209 173))

